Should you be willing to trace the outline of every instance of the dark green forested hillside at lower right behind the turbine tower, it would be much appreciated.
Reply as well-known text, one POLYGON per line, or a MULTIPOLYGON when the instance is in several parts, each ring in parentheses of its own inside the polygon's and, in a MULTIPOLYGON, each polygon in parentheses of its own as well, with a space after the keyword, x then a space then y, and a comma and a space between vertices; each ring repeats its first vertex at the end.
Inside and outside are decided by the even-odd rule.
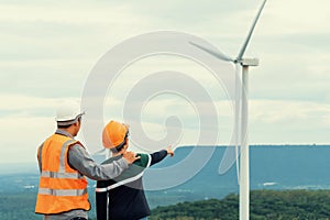
MULTIPOLYGON (((255 190, 251 191, 252 220, 327 220, 330 219, 329 190, 255 190)), ((229 195, 222 200, 209 199, 158 207, 152 220, 239 219, 239 197, 229 195)))

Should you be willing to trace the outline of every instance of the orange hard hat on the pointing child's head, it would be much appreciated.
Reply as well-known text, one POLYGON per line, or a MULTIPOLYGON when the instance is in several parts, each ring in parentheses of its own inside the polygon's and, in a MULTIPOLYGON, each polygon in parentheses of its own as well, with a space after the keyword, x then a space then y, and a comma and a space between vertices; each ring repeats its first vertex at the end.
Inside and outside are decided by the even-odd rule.
POLYGON ((110 121, 103 129, 102 143, 107 148, 120 147, 125 143, 129 134, 129 125, 117 121, 110 121))

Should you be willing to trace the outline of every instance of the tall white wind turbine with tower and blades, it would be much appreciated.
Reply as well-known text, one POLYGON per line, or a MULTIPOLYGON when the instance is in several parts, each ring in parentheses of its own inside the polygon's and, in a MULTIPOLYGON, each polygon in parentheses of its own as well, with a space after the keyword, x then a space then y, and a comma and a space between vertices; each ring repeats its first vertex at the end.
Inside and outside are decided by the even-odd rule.
MULTIPOLYGON (((239 52, 239 55, 237 58, 231 58, 223 53, 219 51, 213 51, 210 48, 207 48, 202 45, 198 45, 194 42, 190 42, 194 46, 216 56, 217 58, 224 61, 224 62, 232 62, 235 64, 237 72, 240 69, 240 66, 242 67, 242 94, 241 99, 237 98, 237 105, 235 105, 235 128, 238 133, 241 132, 241 147, 240 147, 240 163, 237 155, 237 168, 240 164, 240 173, 238 170, 239 176, 239 184, 240 184, 240 220, 249 220, 250 219, 250 158, 249 158, 249 143, 248 143, 248 91, 249 91, 249 67, 250 66, 257 66, 258 59, 257 58, 243 58, 244 53, 246 51, 248 44, 251 40, 252 33, 254 31, 254 28, 256 25, 256 22, 262 13, 262 10, 264 9, 266 3, 266 0, 263 1, 256 18, 253 21, 253 24, 249 31, 248 37, 245 38, 242 48, 239 52), (239 101, 238 101, 239 100, 239 101), (240 108, 241 107, 241 108, 240 108), (238 116, 241 114, 241 124, 239 123, 238 116), (238 129, 240 125, 240 129, 238 129)), ((238 77, 238 76, 237 76, 238 77)), ((238 79, 237 79, 238 80, 238 79)), ((237 84, 238 85, 238 84, 237 84)), ((235 138, 238 139, 238 134, 235 138)), ((238 144, 238 140, 237 140, 238 144)), ((237 145, 238 147, 238 145, 237 145)), ((238 151, 235 151, 238 154, 238 151)), ((226 155, 224 157, 226 158, 226 155)), ((223 160, 222 160, 223 162, 223 160)), ((223 163, 220 164, 220 170, 228 170, 230 167, 223 168, 223 163)), ((226 165, 224 165, 226 166, 226 165)))

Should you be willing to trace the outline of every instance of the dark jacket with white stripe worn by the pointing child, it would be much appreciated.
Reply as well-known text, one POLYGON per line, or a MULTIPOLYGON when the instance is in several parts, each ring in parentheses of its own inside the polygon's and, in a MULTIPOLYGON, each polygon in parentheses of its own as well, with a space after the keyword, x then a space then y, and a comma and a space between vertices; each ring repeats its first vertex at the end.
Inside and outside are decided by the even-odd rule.
MULTIPOLYGON (((96 208, 98 220, 136 220, 150 216, 142 176, 145 168, 161 162, 166 157, 167 152, 164 150, 153 154, 138 155, 141 158, 130 165, 119 177, 97 182, 96 208)), ((121 156, 111 157, 102 164, 120 158, 121 156)))

